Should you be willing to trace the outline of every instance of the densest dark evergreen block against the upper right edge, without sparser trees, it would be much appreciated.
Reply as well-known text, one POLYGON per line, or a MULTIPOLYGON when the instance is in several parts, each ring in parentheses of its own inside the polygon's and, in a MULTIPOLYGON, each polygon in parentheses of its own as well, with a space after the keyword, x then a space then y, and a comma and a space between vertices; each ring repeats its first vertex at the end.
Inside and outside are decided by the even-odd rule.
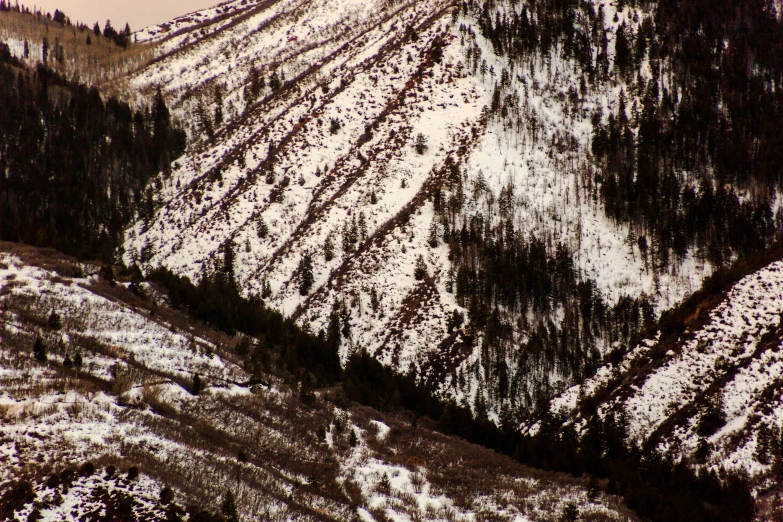
POLYGON ((664 266, 694 246, 718 266, 769 246, 783 222, 771 209, 783 186, 783 26, 771 6, 664 1, 627 39, 640 52, 615 65, 643 102, 594 122, 607 213, 648 231, 664 266), (650 81, 633 74, 643 59, 650 81))

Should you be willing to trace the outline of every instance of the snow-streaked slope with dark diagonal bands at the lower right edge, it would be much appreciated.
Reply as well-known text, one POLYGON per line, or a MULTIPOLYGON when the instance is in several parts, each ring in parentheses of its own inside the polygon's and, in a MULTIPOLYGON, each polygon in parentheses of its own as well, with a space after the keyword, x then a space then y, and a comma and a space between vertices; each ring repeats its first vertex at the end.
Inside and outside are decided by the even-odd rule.
POLYGON ((711 469, 743 469, 763 491, 783 425, 782 295, 776 261, 708 296, 681 333, 643 341, 550 409, 578 429, 585 415, 622 417, 629 442, 711 469), (585 409, 590 403, 597 410, 585 409))

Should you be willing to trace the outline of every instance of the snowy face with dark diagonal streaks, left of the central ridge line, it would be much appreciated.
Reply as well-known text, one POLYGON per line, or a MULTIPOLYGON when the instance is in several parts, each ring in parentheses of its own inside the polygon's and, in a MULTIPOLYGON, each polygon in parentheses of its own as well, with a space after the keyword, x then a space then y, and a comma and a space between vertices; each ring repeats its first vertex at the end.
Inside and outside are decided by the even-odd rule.
MULTIPOLYGON (((437 9, 443 5, 403 5, 386 17, 391 14, 403 20, 415 17, 410 22, 415 26, 428 23, 429 15, 433 11, 438 13, 437 9)), ((329 13, 330 9, 323 12, 329 13)), ((351 11, 347 12, 350 15, 351 11)), ((322 17, 320 13, 321 10, 318 17, 322 17)), ((341 14, 345 13, 341 11, 341 14)), ((385 15, 382 10, 370 13, 369 20, 364 23, 373 23, 374 18, 385 15)), ((442 14, 441 11, 440 16, 442 14)), ((318 17, 315 22, 323 24, 318 17)), ((306 21, 296 20, 296 32, 306 34, 307 25, 306 21)), ((289 34, 291 31, 287 27, 266 37, 259 48, 263 49, 265 43, 270 45, 267 42, 279 44, 280 40, 275 36, 289 34)), ((383 23, 370 26, 362 40, 351 45, 359 51, 338 49, 323 60, 324 64, 318 65, 317 74, 321 78, 337 75, 331 79, 328 94, 317 88, 313 83, 317 78, 311 79, 313 74, 310 74, 300 79, 295 87, 299 91, 303 89, 302 84, 312 85, 304 87, 307 89, 304 95, 288 92, 294 89, 291 88, 262 100, 259 106, 248 111, 248 115, 229 125, 225 137, 219 137, 218 144, 205 153, 208 156, 201 156, 202 161, 205 157, 210 160, 199 167, 200 171, 221 165, 222 181, 210 182, 203 176, 197 178, 199 181, 190 181, 192 165, 184 162, 173 174, 171 189, 165 191, 167 200, 158 212, 158 221, 150 225, 146 234, 141 234, 143 227, 140 226, 129 236, 128 258, 132 252, 141 252, 145 245, 151 244, 156 253, 149 260, 152 265, 163 262, 191 277, 198 277, 199 265, 209 264, 225 242, 231 240, 237 245, 237 276, 247 291, 261 293, 262 285, 269 283, 272 303, 286 313, 296 311, 297 316, 310 318, 316 330, 325 326, 335 296, 363 293, 357 298, 365 301, 363 310, 366 310, 373 288, 383 301, 383 309, 378 313, 394 317, 406 295, 416 286, 412 277, 413 264, 418 254, 427 251, 426 230, 432 218, 431 214, 423 214, 404 228, 395 225, 393 220, 403 209, 421 210, 419 207, 433 186, 433 182, 427 184, 427 180, 437 179, 444 164, 455 161, 458 147, 478 131, 480 110, 486 101, 481 99, 470 79, 456 71, 459 56, 451 42, 452 35, 443 38, 448 44, 443 63, 436 64, 429 59, 429 46, 432 40, 440 37, 442 30, 443 27, 433 24, 421 30, 418 43, 409 41, 399 46, 399 42, 405 40, 401 23, 393 23, 387 28, 383 23), (369 92, 372 94, 368 98, 369 92), (280 100, 283 97, 293 99, 280 100), (438 117, 433 118, 433 114, 438 117), (332 118, 343 120, 341 129, 334 135, 329 132, 332 118), (422 155, 412 147, 419 133, 429 139, 429 150, 422 155), (259 141, 261 136, 263 141, 259 141), (357 141, 361 142, 358 149, 357 141), (278 144, 277 150, 272 158, 263 160, 269 152, 270 142, 278 144), (235 158, 237 155, 244 159, 235 158), (229 164, 229 161, 238 164, 229 164), (329 171, 321 178, 321 169, 325 167, 329 171), (264 197, 272 188, 264 180, 268 181, 270 176, 265 172, 270 168, 275 171, 274 177, 286 180, 281 181, 286 186, 279 189, 285 191, 282 204, 272 201, 271 195, 264 197), (186 180, 191 183, 187 190, 174 188, 182 186, 186 180), (401 188, 403 184, 405 188, 401 188), (193 205, 194 194, 196 201, 199 198, 211 201, 207 203, 209 208, 193 205), (370 204, 373 197, 378 201, 375 205, 370 204), (411 204, 411 200, 415 201, 411 204), (226 201, 236 204, 228 205, 226 201), (356 239, 357 243, 369 239, 367 248, 358 248, 359 259, 344 256, 348 263, 344 265, 339 255, 329 261, 317 255, 330 234, 339 249, 341 229, 352 222, 358 227, 357 219, 362 221, 362 237, 356 239), (260 220, 270 229, 266 238, 258 237, 260 220), (418 233, 408 230, 411 227, 418 228, 418 233), (207 229, 209 235, 204 233, 207 229), (403 236, 418 241, 413 239, 414 243, 406 241, 404 244, 401 242, 403 236), (383 244, 369 246, 380 242, 383 244), (295 274, 297 264, 306 252, 315 254, 315 287, 320 287, 317 295, 307 300, 300 295, 295 274), (380 259, 379 255, 382 255, 380 259), (347 266, 367 266, 366 258, 373 259, 372 266, 377 268, 362 270, 377 270, 377 273, 364 274, 360 283, 350 275, 347 266), (392 258, 397 259, 398 264, 383 262, 392 258), (336 272, 345 272, 348 275, 345 280, 352 280, 352 285, 355 283, 357 287, 342 288, 335 281, 331 287, 324 287, 330 274, 336 272), (406 279, 408 282, 402 284, 406 279)), ((302 44, 294 43, 294 48, 297 45, 302 44)), ((291 52, 291 46, 290 42, 285 42, 285 52, 291 52)), ((327 50, 319 46, 315 58, 297 59, 318 59, 326 55, 327 50)), ((274 56, 274 53, 264 52, 264 55, 274 56)), ((296 74, 292 69, 304 67, 296 62, 281 62, 287 77, 296 74)), ((239 76, 237 81, 244 80, 244 74, 234 71, 221 75, 220 81, 231 83, 232 74, 239 76)), ((149 80, 145 77, 144 81, 149 80)), ((228 88, 228 92, 232 90, 236 92, 238 88, 228 88)), ((442 266, 443 255, 434 255, 432 263, 442 266)), ((443 299, 440 294, 435 296, 438 301, 443 299)), ((437 344, 445 337, 445 316, 453 305, 446 298, 445 303, 433 306, 441 310, 439 314, 443 320, 435 321, 439 324, 434 329, 421 329, 417 339, 421 346, 437 344)), ((357 317, 357 322, 361 326, 354 329, 354 344, 375 351, 391 343, 384 334, 383 322, 368 321, 361 316, 357 317)), ((411 353, 416 353, 414 347, 403 358, 411 359, 411 353)))

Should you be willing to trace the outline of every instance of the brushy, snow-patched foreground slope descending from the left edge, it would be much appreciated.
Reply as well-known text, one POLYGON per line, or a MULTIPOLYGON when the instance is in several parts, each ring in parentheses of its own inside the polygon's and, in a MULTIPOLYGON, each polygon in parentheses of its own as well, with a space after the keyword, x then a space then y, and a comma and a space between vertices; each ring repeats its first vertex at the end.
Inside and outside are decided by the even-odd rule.
POLYGON ((164 485, 213 511, 231 491, 246 520, 526 521, 569 504, 633 519, 614 497, 590 500, 584 481, 366 408, 307 406, 273 375, 248 387, 236 339, 151 287, 144 297, 83 275, 95 268, 8 244, 0 254, 0 509, 11 520, 165 520, 164 485))

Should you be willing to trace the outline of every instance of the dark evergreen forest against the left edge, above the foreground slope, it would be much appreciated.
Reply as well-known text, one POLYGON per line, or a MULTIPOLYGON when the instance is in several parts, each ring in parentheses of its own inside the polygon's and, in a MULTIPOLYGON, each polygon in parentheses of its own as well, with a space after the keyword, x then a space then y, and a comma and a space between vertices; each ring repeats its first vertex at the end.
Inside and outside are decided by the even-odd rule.
POLYGON ((160 92, 133 110, 0 45, 0 237, 109 259, 185 149, 160 92))

